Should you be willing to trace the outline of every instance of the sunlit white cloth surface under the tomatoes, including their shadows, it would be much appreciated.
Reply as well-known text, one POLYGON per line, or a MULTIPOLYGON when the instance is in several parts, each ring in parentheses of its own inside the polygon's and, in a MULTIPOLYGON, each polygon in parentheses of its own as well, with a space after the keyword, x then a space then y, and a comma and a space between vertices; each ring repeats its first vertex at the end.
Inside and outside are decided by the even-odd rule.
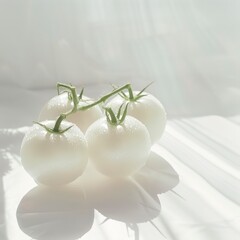
MULTIPOLYGON (((1 130, 1 239, 31 239, 20 230, 16 219, 20 200, 35 186, 20 164, 19 145, 26 129, 1 130), (4 238, 4 234, 8 238, 4 238)), ((97 174, 91 177, 93 173, 88 170, 75 185, 79 191, 84 189, 84 192, 87 192, 88 203, 93 202, 89 205, 90 208, 110 209, 103 212, 107 213, 105 216, 110 217, 110 220, 100 225, 105 217, 95 210, 94 224, 81 239, 165 239, 146 217, 143 218, 146 223, 138 224, 139 238, 135 238, 132 230, 129 230, 128 237, 123 224, 128 223, 132 215, 141 218, 142 215, 149 214, 151 218, 151 210, 158 209, 157 203, 149 200, 149 197, 155 196, 150 194, 154 192, 159 193, 161 211, 153 222, 167 239, 238 240, 239 136, 239 125, 218 116, 173 120, 168 122, 159 144, 153 147, 156 155, 149 159, 149 164, 151 166, 154 161, 158 164, 145 170, 142 178, 136 178, 139 185, 134 185, 134 188, 128 184, 120 184, 120 188, 113 184, 112 188, 106 190, 106 183, 99 180, 101 177, 97 174), (171 191, 176 184, 178 185, 171 191), (144 199, 139 197, 139 194, 144 199), (103 203, 105 208, 101 207, 103 203), (122 218, 119 217, 121 212, 124 212, 122 218), (116 221, 119 218, 121 221, 116 221)), ((49 228, 56 230, 57 226, 61 226, 60 229, 64 228, 65 233, 72 236, 76 232, 73 231, 74 224, 81 221, 89 224, 89 215, 86 217, 81 209, 78 209, 78 203, 82 202, 76 198, 75 193, 73 197, 70 195, 69 199, 68 196, 68 192, 63 192, 57 195, 55 200, 50 198, 42 201, 44 194, 41 195, 40 191, 39 196, 33 199, 29 197, 20 208, 24 216, 21 220, 23 223, 20 221, 25 226, 24 231, 44 235, 44 238, 39 239, 50 239, 45 235, 49 228), (36 203, 37 201, 40 203, 36 203)), ((85 225, 79 225, 79 234, 85 230, 83 226, 85 225)))

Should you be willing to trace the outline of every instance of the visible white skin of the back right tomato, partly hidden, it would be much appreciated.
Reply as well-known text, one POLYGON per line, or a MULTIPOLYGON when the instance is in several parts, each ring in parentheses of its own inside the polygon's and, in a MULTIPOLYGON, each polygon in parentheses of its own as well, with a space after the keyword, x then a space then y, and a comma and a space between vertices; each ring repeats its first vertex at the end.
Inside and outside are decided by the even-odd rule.
MULTIPOLYGON (((134 91, 133 93, 136 95, 138 92, 134 91)), ((146 94, 146 96, 137 101, 128 102, 127 113, 141 121, 147 127, 152 144, 154 144, 160 139, 164 132, 167 114, 163 105, 157 98, 149 93, 144 92, 143 94, 146 94)), ((127 102, 127 100, 118 95, 107 104, 107 107, 117 112, 124 102, 127 102)))

